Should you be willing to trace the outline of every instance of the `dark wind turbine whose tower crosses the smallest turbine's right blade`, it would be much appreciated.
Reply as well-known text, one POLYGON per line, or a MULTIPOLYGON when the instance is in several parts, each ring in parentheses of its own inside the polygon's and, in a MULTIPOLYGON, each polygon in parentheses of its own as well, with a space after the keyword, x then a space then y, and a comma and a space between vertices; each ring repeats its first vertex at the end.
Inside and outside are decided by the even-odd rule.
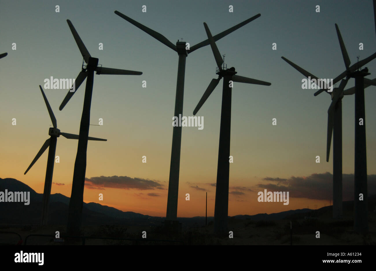
POLYGON ((142 75, 142 72, 135 72, 132 70, 120 70, 112 68, 104 68, 98 65, 98 58, 91 57, 89 51, 83 44, 80 36, 78 35, 76 29, 70 20, 67 20, 68 26, 73 34, 74 40, 80 49, 83 60, 86 65, 82 65, 82 71, 77 76, 76 81, 73 84, 74 90, 72 89, 65 96, 63 102, 61 103, 59 110, 62 110, 67 104, 69 99, 76 93, 77 88, 86 80, 85 88, 85 98, 83 100, 83 110, 80 123, 80 137, 78 140, 77 156, 74 162, 74 172, 73 172, 73 183, 72 183, 72 193, 69 201, 69 213, 68 213, 68 225, 67 231, 70 234, 79 234, 81 215, 82 215, 82 204, 83 204, 83 188, 85 185, 85 172, 86 172, 86 151, 88 147, 88 135, 89 135, 89 121, 90 121, 90 107, 91 107, 91 96, 94 82, 94 72, 98 75, 142 75))

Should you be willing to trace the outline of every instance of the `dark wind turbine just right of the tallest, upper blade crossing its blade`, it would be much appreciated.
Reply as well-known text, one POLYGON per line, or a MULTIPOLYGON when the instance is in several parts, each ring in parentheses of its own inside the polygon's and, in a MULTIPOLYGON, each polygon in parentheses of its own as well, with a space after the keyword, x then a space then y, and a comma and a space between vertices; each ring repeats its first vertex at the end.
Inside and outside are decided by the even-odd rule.
POLYGON ((206 35, 214 54, 215 62, 217 62, 216 74, 217 79, 212 79, 205 93, 193 111, 196 115, 197 111, 202 107, 206 99, 217 87, 219 81, 223 77, 222 90, 222 109, 221 109, 221 126, 219 134, 219 148, 218 148, 218 167, 217 167, 217 186, 215 189, 215 208, 214 208, 214 231, 218 236, 224 236, 227 232, 227 215, 229 206, 229 156, 230 156, 230 126, 231 126, 231 88, 230 81, 257 84, 257 85, 271 85, 268 82, 251 79, 236 75, 235 68, 227 69, 227 65, 223 64, 221 54, 215 44, 209 27, 204 23, 206 35), (223 64, 223 66, 222 66, 223 64))

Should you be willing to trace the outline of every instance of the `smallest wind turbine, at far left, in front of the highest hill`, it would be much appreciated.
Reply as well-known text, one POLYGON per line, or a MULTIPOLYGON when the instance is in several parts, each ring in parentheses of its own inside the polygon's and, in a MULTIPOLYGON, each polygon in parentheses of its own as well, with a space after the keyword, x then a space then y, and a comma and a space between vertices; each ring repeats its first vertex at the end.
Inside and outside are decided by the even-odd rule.
MULTIPOLYGON (((26 174, 29 169, 35 164, 35 162, 41 157, 41 155, 44 153, 44 151, 49 148, 48 151, 48 157, 47 157, 47 169, 46 169, 46 177, 44 181, 44 191, 43 191, 43 207, 42 207, 42 216, 41 216, 41 225, 47 224, 47 215, 48 215, 48 205, 50 201, 50 194, 51 194, 51 184, 52 184, 52 175, 53 175, 53 165, 55 162, 55 152, 56 152, 56 141, 59 136, 63 136, 67 139, 79 139, 79 136, 76 134, 68 134, 65 132, 61 132, 57 128, 56 118, 53 114, 53 111, 50 107, 50 104, 47 100, 47 97, 45 96, 42 87, 39 85, 39 88, 41 89, 44 102, 47 106, 48 113, 50 114, 50 118, 52 121, 53 127, 49 129, 49 136, 51 136, 49 139, 47 139, 44 144, 42 145, 42 148, 39 150, 39 152, 36 154, 34 160, 31 162, 30 166, 26 169, 26 174)), ((107 141, 107 139, 100 139, 96 137, 88 137, 89 140, 99 140, 99 141, 107 141)))

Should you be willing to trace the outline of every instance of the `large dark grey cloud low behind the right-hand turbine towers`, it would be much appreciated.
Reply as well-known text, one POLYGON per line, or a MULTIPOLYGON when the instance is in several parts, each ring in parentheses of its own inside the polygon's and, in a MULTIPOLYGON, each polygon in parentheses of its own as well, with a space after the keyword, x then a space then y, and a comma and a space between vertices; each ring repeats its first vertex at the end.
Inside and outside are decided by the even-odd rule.
MULTIPOLYGON (((278 178, 273 178, 278 179, 278 178)), ((280 179, 283 180, 283 179, 280 179)), ((376 175, 368 175, 368 195, 376 194, 376 175)), ((330 200, 333 198, 333 175, 329 172, 314 173, 308 177, 294 177, 279 184, 258 184, 270 191, 288 191, 290 197, 330 200)), ((354 199, 354 174, 342 174, 343 200, 354 199)))

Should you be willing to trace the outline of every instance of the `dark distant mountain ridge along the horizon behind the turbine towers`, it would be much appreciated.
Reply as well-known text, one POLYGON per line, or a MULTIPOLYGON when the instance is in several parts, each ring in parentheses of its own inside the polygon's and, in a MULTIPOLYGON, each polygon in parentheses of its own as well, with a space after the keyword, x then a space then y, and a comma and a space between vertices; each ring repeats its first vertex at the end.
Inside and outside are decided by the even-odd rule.
MULTIPOLYGON (((30 186, 13 178, 0 178, 0 191, 26 191, 30 192, 30 205, 17 204, 14 202, 0 202, 0 224, 39 224, 42 210, 43 194, 36 193, 30 186)), ((374 204, 376 196, 369 196, 369 204, 374 204), (373 202, 373 203, 372 203, 373 202)), ((62 225, 66 224, 68 218, 68 206, 70 198, 60 193, 50 196, 50 207, 48 224, 62 225)), ((351 208, 352 201, 344 202, 344 207, 351 208)), ((257 215, 235 215, 232 218, 250 219, 253 221, 271 221, 280 219, 290 219, 294 217, 304 217, 312 214, 312 212, 327 212, 331 206, 326 206, 318 210, 297 209, 288 210, 280 213, 260 213, 257 215)), ((83 203, 82 223, 85 225, 102 225, 102 224, 134 224, 134 225, 158 225, 165 218, 160 216, 149 216, 135 212, 123 212, 114 207, 105 206, 96 202, 83 203)), ((205 223, 205 216, 196 216, 193 218, 178 218, 180 222, 186 224, 202 224, 205 223)), ((213 217, 208 217, 208 222, 213 217)))

